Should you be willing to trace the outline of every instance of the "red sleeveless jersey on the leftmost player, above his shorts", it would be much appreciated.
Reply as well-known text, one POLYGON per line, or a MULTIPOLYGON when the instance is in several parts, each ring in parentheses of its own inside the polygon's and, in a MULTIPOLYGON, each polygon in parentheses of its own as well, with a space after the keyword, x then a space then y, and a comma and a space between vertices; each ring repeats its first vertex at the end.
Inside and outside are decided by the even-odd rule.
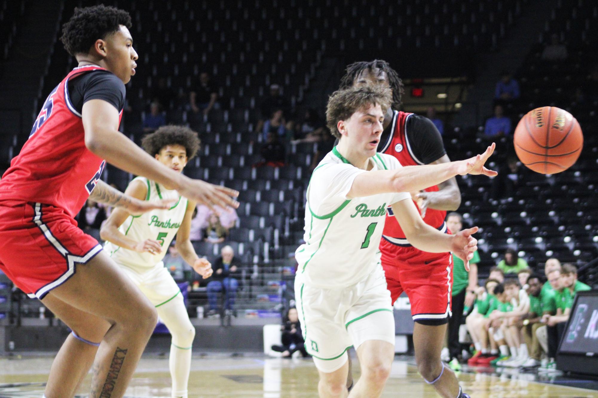
MULTIPOLYGON (((105 70, 80 66, 44 102, 23 149, 0 180, 0 200, 39 202, 75 217, 100 179, 106 161, 85 146, 81 114, 69 101, 69 79, 105 70)), ((118 121, 123 116, 120 111, 118 121)))

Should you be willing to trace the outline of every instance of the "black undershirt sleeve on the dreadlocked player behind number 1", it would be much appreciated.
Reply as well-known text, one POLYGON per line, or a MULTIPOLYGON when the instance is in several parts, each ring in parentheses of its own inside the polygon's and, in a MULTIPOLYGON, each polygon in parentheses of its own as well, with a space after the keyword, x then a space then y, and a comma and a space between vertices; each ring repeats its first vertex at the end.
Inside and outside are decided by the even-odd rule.
POLYGON ((412 115, 405 127, 411 151, 420 162, 428 165, 446 155, 443 137, 430 119, 412 115))

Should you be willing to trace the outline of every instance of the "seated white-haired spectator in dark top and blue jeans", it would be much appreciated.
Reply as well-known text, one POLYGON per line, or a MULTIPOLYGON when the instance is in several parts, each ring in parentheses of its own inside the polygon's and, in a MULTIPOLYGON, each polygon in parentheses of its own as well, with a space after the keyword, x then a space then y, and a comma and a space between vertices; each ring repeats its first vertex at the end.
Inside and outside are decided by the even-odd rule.
POLYGON ((218 293, 224 289, 224 309, 226 311, 233 311, 234 299, 239 288, 239 281, 233 277, 237 271, 237 266, 234 265, 234 251, 231 246, 224 246, 220 251, 220 257, 216 258, 213 264, 212 280, 208 282, 208 302, 210 310, 208 316, 216 314, 218 308, 218 293))

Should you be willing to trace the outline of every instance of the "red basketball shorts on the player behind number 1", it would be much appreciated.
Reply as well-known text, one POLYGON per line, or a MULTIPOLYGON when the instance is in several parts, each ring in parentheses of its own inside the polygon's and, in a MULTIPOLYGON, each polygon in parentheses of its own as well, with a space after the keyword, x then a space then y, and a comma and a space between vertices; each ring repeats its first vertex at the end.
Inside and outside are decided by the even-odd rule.
POLYGON ((451 316, 453 257, 450 253, 426 253, 413 246, 380 242, 382 268, 392 304, 405 292, 411 317, 424 325, 443 325, 451 316))

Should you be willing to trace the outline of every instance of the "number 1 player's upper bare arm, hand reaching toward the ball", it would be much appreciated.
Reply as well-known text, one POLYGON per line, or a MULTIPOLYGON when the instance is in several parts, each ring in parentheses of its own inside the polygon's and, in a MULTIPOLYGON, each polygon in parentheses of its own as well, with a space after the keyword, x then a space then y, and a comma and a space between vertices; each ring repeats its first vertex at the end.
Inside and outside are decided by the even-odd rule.
POLYGON ((494 152, 495 144, 481 155, 438 165, 405 166, 395 170, 376 170, 359 174, 347 198, 362 198, 389 192, 414 192, 449 180, 455 175, 484 174, 494 176, 498 173, 484 167, 484 163, 494 152))

